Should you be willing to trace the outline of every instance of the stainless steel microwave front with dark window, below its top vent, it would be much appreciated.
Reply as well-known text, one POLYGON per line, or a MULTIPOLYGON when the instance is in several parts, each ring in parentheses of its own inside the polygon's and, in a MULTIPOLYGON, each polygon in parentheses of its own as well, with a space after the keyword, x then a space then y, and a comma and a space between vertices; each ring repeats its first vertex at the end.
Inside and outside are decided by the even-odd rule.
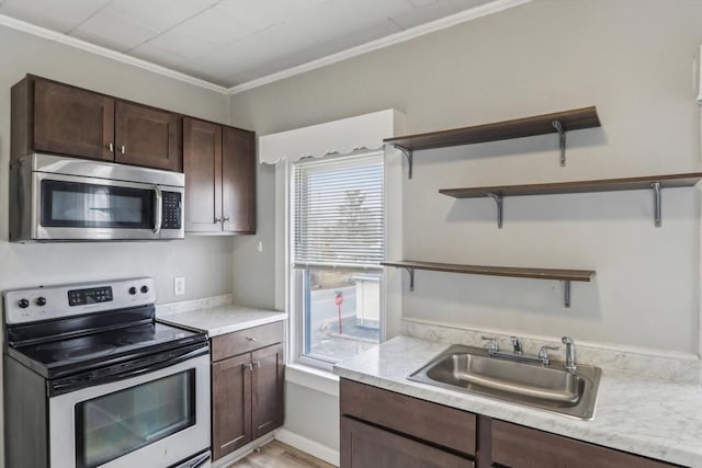
MULTIPOLYGON (((179 237, 162 231, 172 225, 172 212, 182 208, 181 187, 34 172, 32 238, 35 240, 136 240, 179 237), (169 202, 163 216, 163 199, 169 202), (176 203, 176 206, 173 203, 176 203)), ((180 215, 180 212, 177 212, 180 215)))

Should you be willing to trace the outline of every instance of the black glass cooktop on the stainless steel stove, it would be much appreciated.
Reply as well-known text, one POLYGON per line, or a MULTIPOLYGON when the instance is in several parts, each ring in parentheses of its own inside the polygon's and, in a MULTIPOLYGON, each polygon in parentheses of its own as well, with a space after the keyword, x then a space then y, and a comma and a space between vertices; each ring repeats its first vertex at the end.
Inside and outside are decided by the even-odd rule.
POLYGON ((150 322, 18 346, 11 354, 50 378, 206 340, 203 333, 150 322))

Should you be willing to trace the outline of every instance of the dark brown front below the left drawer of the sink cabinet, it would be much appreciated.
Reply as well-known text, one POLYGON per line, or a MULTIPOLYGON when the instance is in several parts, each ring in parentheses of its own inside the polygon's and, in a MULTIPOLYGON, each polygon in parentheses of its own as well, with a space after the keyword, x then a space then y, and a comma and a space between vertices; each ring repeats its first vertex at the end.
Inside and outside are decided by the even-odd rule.
POLYGON ((340 468, 471 468, 473 461, 403 437, 393 432, 341 418, 340 468))

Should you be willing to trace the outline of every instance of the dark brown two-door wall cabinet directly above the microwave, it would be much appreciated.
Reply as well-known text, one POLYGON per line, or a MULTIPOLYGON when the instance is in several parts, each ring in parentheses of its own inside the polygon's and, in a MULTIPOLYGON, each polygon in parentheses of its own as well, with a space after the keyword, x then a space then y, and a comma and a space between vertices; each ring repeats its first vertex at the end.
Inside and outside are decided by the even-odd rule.
POLYGON ((12 87, 12 157, 50 152, 182 171, 182 117, 27 75, 12 87))

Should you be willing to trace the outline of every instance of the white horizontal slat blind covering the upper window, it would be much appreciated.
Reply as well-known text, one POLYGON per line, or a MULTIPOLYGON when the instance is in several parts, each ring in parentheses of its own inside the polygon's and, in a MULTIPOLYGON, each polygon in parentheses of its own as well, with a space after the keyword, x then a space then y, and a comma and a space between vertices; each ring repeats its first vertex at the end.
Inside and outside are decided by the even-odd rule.
POLYGON ((378 267, 385 210, 383 153, 293 167, 295 266, 378 267))

